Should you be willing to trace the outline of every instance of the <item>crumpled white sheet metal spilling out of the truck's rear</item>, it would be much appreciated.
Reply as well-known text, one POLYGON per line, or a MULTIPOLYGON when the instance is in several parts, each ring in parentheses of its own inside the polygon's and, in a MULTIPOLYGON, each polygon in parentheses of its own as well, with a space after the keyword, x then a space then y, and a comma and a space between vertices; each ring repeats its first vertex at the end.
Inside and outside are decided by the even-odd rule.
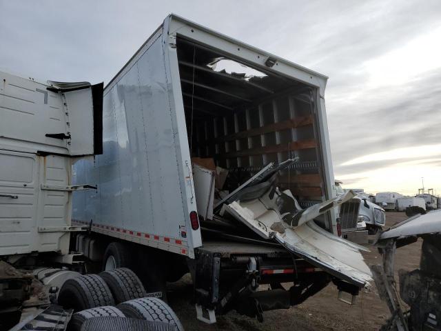
MULTIPOLYGON (((290 194, 289 191, 284 193, 286 192, 290 194)), ((335 277, 359 287, 369 284, 371 272, 360 253, 360 250, 367 248, 336 237, 314 222, 314 218, 319 214, 351 199, 354 196, 353 192, 349 191, 307 208, 302 211, 299 225, 294 227, 285 223, 280 214, 280 194, 274 194, 272 199, 270 194, 271 192, 267 192, 253 201, 234 201, 225 205, 223 212, 228 212, 261 237, 276 239, 290 252, 335 277)))

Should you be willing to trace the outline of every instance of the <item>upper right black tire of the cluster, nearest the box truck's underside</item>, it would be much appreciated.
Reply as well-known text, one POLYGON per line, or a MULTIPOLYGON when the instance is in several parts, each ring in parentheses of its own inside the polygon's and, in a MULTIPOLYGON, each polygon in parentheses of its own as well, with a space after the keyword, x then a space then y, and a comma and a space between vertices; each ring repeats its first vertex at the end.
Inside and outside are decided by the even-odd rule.
POLYGON ((116 303, 143 298, 147 295, 143 283, 127 268, 103 271, 99 274, 109 286, 116 303))

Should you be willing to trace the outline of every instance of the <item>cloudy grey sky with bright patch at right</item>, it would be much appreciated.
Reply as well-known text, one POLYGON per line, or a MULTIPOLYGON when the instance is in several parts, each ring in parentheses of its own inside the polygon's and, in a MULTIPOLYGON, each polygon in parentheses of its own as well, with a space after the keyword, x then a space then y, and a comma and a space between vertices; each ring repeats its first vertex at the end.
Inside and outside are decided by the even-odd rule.
POLYGON ((170 12, 329 76, 345 187, 441 194, 440 0, 0 0, 0 68, 106 83, 170 12))

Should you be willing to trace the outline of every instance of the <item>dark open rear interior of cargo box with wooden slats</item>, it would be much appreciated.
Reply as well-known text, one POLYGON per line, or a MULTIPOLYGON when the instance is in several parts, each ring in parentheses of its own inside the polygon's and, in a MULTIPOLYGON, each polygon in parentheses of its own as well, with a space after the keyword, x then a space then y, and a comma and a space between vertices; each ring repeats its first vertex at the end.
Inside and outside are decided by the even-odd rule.
POLYGON ((191 156, 228 170, 223 190, 271 161, 298 157, 278 174, 278 186, 289 188, 302 208, 323 201, 316 89, 182 37, 176 46, 191 156))

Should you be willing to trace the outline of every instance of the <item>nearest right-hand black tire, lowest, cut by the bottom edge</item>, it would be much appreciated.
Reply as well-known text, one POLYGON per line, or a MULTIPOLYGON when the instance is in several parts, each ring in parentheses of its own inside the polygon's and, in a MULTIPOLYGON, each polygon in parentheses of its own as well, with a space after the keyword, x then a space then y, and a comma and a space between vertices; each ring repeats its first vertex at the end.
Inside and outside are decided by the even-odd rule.
POLYGON ((172 308, 160 299, 134 299, 120 303, 117 308, 119 308, 126 317, 170 323, 175 325, 179 331, 184 331, 181 321, 179 321, 172 308))

